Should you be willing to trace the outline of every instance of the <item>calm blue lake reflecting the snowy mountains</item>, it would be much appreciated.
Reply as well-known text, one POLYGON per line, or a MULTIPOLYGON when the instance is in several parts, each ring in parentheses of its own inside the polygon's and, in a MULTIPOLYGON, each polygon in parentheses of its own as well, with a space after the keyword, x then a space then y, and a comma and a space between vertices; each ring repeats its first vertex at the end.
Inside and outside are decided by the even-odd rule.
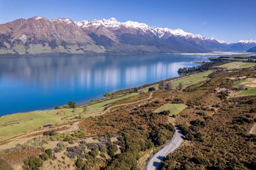
MULTIPOLYGON (((207 56, 209 57, 209 56, 207 56)), ((180 67, 208 61, 189 55, 96 55, 0 58, 0 116, 82 104, 106 92, 178 76, 180 67)))

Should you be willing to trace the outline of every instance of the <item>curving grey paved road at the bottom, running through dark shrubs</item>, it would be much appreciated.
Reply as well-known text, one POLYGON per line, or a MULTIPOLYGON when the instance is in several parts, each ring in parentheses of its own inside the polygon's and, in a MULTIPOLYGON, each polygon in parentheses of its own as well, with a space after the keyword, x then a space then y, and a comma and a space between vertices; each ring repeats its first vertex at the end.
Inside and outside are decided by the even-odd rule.
POLYGON ((162 161, 166 156, 179 148, 181 143, 184 141, 184 136, 181 134, 181 130, 177 127, 175 127, 175 129, 172 140, 170 140, 149 159, 146 165, 146 170, 160 170, 162 167, 162 161))

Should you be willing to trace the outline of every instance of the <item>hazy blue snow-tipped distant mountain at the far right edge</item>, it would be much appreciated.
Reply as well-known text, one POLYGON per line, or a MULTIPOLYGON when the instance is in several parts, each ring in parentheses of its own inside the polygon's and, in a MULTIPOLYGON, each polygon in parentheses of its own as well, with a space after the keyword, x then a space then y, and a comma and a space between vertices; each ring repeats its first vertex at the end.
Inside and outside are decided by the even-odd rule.
POLYGON ((228 45, 230 51, 247 51, 248 49, 255 47, 256 41, 254 40, 241 40, 238 43, 232 43, 228 45))

